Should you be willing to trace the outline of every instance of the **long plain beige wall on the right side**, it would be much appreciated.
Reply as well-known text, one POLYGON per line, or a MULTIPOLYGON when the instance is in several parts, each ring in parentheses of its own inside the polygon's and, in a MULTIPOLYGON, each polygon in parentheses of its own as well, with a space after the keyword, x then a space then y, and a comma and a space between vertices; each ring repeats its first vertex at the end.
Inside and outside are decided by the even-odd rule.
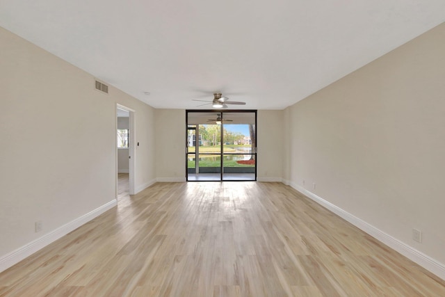
POLYGON ((442 24, 286 109, 282 168, 293 186, 442 263, 444 53, 442 24))

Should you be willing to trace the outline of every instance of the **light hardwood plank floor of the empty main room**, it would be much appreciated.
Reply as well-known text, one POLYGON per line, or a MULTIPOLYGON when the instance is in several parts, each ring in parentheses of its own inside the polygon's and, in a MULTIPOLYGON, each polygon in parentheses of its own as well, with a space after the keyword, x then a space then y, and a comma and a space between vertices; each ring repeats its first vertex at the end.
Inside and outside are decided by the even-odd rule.
POLYGON ((445 296, 280 183, 158 183, 0 274, 0 296, 445 296))

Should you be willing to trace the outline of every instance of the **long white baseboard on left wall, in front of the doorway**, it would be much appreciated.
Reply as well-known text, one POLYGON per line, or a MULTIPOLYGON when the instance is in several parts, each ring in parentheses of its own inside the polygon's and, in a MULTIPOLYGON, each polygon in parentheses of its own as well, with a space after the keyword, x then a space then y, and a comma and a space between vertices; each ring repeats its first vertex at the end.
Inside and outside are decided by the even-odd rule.
POLYGON ((30 243, 22 246, 21 248, 17 248, 13 252, 10 252, 6 255, 0 257, 0 272, 5 271, 7 268, 17 264, 22 261, 26 257, 31 256, 34 252, 48 246, 49 243, 53 243, 60 237, 65 236, 66 234, 72 232, 77 229, 81 225, 88 223, 93 218, 103 214, 108 209, 115 207, 118 204, 116 200, 112 200, 102 207, 98 207, 97 209, 90 211, 88 214, 84 214, 83 216, 76 218, 70 223, 67 223, 61 227, 58 227, 56 230, 51 231, 47 234, 44 234, 42 237, 31 241, 30 243))

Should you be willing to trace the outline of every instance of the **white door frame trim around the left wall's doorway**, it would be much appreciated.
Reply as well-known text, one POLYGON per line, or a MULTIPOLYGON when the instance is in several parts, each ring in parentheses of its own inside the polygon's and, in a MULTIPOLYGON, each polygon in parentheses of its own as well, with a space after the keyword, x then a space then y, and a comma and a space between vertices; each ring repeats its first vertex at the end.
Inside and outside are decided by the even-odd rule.
POLYGON ((116 199, 118 199, 118 109, 129 112, 129 194, 135 194, 135 164, 136 164, 136 117, 135 111, 127 106, 116 104, 115 109, 115 152, 116 152, 116 199))

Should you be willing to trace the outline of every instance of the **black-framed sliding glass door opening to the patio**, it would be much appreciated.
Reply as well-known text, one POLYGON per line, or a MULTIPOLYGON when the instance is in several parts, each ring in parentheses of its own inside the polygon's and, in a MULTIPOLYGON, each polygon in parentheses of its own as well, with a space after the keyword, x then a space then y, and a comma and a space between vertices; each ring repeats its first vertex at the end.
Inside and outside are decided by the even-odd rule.
POLYGON ((186 177, 257 180, 257 111, 186 111, 186 177))

